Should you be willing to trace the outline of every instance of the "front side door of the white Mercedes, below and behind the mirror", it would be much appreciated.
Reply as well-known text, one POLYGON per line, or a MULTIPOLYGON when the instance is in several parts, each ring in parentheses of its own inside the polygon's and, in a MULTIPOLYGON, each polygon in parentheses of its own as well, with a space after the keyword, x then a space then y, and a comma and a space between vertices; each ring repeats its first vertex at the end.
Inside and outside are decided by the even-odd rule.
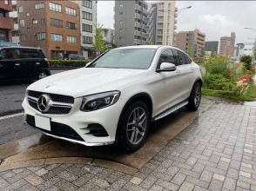
MULTIPOLYGON (((158 59, 158 68, 161 63, 174 63, 175 59, 172 49, 165 49, 162 51, 158 59)), ((183 100, 179 95, 182 91, 182 82, 178 71, 171 72, 156 72, 153 76, 153 82, 150 86, 153 90, 153 102, 156 110, 155 115, 164 112, 175 104, 183 100)))

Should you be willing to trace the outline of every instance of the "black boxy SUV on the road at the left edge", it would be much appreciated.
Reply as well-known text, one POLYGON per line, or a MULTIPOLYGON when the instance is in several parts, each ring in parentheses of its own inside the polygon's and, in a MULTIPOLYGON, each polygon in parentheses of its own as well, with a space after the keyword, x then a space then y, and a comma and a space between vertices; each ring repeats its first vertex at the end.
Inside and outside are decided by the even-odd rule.
POLYGON ((0 46, 0 81, 51 76, 44 49, 0 46))

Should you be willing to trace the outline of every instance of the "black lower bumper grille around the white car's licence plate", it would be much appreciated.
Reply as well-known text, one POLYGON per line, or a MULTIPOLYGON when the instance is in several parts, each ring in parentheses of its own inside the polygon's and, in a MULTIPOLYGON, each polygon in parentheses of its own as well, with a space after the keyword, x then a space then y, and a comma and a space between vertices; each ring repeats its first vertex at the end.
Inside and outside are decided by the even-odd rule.
MULTIPOLYGON (((27 123, 31 126, 36 127, 35 117, 32 115, 27 115, 27 123)), ((46 133, 51 135, 63 136, 65 138, 74 139, 77 141, 84 141, 77 132, 68 125, 59 123, 59 122, 51 122, 51 131, 44 130, 43 128, 38 128, 46 133)))

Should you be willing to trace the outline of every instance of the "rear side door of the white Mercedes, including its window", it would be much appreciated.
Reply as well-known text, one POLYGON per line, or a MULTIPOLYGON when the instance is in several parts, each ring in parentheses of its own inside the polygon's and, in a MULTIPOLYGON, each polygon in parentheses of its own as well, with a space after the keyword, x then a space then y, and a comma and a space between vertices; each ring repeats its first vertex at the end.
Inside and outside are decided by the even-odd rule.
POLYGON ((192 90, 193 83, 193 69, 191 63, 186 59, 186 55, 177 50, 173 49, 173 53, 177 62, 177 71, 179 72, 179 78, 182 85, 182 89, 180 89, 180 97, 182 99, 186 99, 189 97, 190 92, 192 90))

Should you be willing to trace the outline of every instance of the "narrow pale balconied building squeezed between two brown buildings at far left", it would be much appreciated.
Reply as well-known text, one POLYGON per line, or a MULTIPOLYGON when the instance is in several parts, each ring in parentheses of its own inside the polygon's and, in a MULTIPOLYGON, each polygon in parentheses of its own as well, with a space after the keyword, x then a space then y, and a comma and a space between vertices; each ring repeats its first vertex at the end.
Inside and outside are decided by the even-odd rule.
POLYGON ((11 42, 19 43, 19 31, 18 31, 18 22, 17 22, 17 0, 12 0, 12 11, 9 13, 9 16, 13 18, 13 30, 11 30, 11 42))

